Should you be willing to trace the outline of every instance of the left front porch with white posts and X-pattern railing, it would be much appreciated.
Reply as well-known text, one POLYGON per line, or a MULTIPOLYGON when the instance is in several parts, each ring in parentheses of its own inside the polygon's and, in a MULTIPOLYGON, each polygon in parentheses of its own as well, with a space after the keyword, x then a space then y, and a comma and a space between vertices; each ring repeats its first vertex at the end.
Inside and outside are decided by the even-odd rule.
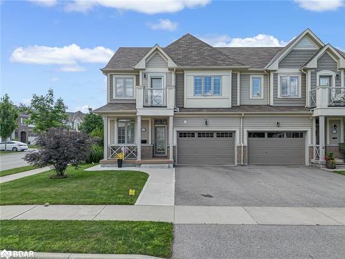
POLYGON ((101 166, 117 166, 124 153, 124 166, 172 167, 172 124, 172 116, 104 116, 101 166))

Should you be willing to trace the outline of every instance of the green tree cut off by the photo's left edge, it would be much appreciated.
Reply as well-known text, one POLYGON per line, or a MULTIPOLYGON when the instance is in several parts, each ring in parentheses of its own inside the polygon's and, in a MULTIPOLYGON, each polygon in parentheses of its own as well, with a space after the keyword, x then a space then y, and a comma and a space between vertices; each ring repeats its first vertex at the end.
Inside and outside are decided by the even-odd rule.
POLYGON ((10 101, 8 94, 0 99, 0 137, 5 139, 5 151, 7 148, 6 140, 17 128, 19 111, 10 101))

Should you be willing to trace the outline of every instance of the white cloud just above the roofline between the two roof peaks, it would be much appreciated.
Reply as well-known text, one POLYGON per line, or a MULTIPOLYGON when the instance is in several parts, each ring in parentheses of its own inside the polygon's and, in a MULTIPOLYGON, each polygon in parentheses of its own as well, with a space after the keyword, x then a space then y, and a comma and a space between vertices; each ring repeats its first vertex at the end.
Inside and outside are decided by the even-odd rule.
POLYGON ((229 35, 206 35, 206 37, 200 39, 215 47, 281 47, 286 46, 288 43, 266 34, 258 34, 247 38, 232 38, 229 35))

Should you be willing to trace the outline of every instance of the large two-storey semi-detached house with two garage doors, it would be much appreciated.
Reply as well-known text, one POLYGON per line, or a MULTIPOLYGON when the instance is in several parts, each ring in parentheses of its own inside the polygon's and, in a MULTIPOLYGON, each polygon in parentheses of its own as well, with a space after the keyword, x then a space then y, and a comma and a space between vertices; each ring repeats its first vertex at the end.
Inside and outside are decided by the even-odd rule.
POLYGON ((214 48, 187 34, 119 48, 102 72, 104 160, 323 164, 342 157, 345 53, 304 30, 284 48, 214 48))

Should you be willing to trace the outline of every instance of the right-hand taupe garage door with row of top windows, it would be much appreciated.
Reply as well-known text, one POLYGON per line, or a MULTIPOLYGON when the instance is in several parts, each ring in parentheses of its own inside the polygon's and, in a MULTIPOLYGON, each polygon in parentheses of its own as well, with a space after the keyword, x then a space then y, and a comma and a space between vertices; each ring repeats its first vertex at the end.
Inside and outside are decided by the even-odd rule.
POLYGON ((248 164, 305 164, 304 132, 248 133, 248 164))

